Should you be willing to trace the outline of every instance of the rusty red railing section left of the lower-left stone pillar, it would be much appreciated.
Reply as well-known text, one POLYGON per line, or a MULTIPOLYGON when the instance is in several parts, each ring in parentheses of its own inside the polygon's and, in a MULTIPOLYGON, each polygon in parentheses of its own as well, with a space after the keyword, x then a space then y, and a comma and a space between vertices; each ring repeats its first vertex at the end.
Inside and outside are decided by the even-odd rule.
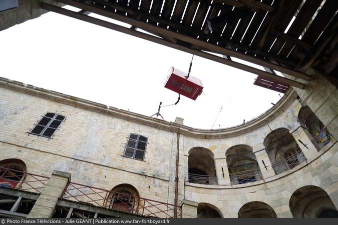
POLYGON ((50 177, 0 167, 0 186, 41 193, 50 177))

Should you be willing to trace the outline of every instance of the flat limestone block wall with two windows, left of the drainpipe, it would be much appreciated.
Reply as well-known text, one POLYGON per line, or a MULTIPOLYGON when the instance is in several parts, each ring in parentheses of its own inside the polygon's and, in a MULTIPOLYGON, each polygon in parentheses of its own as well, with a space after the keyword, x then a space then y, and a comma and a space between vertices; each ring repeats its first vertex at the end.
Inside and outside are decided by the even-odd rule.
POLYGON ((141 197, 168 202, 176 159, 173 132, 6 88, 0 92, 0 160, 20 158, 28 172, 65 171, 73 182, 104 189, 129 183, 141 197), (53 138, 29 134, 46 112, 66 121, 53 138), (148 138, 144 160, 123 156, 129 133, 148 138))

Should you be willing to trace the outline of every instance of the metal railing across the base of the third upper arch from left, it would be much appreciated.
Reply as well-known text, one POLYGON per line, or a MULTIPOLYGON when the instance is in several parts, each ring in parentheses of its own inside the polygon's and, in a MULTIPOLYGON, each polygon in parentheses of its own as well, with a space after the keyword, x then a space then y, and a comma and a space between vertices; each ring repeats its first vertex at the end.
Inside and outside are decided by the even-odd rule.
POLYGON ((296 165, 298 165, 303 161, 306 161, 306 157, 304 153, 301 150, 299 150, 295 154, 274 163, 272 165, 272 168, 274 169, 276 174, 279 174, 286 170, 292 169, 293 167, 295 167, 296 165))

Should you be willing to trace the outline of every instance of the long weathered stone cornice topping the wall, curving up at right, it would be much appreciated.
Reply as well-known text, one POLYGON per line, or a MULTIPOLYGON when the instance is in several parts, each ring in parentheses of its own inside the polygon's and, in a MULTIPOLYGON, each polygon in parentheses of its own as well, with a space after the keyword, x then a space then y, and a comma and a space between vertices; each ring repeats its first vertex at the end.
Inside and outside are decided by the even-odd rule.
POLYGON ((297 96, 296 91, 293 88, 290 88, 273 107, 271 107, 269 110, 267 110, 257 118, 247 121, 245 124, 222 129, 198 129, 175 122, 168 122, 162 119, 141 115, 123 109, 118 109, 111 106, 108 107, 105 104, 85 100, 82 98, 74 97, 52 90, 47 90, 40 87, 35 87, 33 85, 24 84, 18 81, 11 81, 3 77, 0 77, 0 87, 30 94, 32 96, 41 97, 51 101, 60 102, 74 107, 83 108, 85 110, 106 114, 116 118, 121 118, 127 121, 144 124, 154 128, 181 133, 189 137, 203 139, 234 137, 251 132, 261 126, 266 125, 268 122, 276 118, 280 113, 282 113, 285 109, 289 107, 289 105, 295 100, 297 96))

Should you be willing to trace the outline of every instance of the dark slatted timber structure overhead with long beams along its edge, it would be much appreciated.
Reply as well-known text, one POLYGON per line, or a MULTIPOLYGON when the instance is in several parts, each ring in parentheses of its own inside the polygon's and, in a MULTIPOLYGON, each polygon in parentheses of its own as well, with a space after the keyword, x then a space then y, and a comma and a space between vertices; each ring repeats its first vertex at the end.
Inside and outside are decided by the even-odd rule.
POLYGON ((337 74, 337 0, 55 0, 41 7, 303 88, 337 74), (128 27, 91 16, 95 13, 128 27), (144 32, 146 31, 146 32, 144 32), (262 69, 232 60, 239 58, 262 69), (275 71, 294 78, 276 75, 275 71), (333 72, 334 71, 334 72, 333 72), (299 78, 299 79, 296 79, 299 78), (297 81, 296 81, 297 80, 297 81))

